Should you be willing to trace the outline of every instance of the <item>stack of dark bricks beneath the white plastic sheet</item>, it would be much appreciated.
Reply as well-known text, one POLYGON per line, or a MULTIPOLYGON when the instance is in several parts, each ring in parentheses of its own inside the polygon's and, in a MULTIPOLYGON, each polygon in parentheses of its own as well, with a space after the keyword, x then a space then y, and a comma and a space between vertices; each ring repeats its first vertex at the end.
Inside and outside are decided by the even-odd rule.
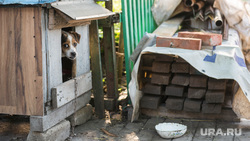
POLYGON ((219 114, 231 108, 235 82, 203 75, 182 58, 168 55, 142 56, 139 68, 141 108, 219 114))

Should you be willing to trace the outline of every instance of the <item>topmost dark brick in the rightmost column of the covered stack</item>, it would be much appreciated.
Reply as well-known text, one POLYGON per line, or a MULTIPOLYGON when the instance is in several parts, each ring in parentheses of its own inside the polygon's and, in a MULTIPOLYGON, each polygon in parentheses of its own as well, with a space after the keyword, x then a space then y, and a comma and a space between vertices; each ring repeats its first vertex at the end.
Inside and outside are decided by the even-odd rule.
POLYGON ((209 90, 225 90, 227 87, 227 81, 225 79, 213 79, 208 80, 209 90))

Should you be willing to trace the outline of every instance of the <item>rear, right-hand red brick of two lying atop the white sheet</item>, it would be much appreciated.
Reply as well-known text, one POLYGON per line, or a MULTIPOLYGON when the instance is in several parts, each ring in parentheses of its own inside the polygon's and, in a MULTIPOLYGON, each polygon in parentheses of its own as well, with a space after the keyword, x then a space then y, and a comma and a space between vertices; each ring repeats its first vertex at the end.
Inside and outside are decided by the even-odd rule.
POLYGON ((178 37, 196 38, 202 40, 203 46, 217 46, 222 43, 222 35, 204 32, 179 32, 178 37))

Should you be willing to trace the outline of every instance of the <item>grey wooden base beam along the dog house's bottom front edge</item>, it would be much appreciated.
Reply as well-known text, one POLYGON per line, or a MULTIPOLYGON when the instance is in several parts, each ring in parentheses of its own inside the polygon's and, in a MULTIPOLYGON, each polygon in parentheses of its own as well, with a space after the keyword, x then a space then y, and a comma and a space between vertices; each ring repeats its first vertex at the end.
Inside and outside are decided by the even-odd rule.
POLYGON ((31 116, 30 130, 39 132, 46 131, 88 104, 90 96, 91 91, 79 96, 77 99, 72 100, 60 108, 53 110, 46 116, 31 116))

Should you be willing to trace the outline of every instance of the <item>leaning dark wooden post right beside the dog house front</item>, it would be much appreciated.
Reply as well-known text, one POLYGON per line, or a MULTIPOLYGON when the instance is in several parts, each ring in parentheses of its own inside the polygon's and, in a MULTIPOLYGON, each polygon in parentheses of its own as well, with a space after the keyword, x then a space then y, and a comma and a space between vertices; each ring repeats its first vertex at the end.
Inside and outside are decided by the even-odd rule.
POLYGON ((101 51, 98 36, 98 21, 92 21, 89 26, 90 55, 92 66, 92 84, 95 102, 95 112, 98 118, 104 118, 104 94, 102 83, 101 51))

